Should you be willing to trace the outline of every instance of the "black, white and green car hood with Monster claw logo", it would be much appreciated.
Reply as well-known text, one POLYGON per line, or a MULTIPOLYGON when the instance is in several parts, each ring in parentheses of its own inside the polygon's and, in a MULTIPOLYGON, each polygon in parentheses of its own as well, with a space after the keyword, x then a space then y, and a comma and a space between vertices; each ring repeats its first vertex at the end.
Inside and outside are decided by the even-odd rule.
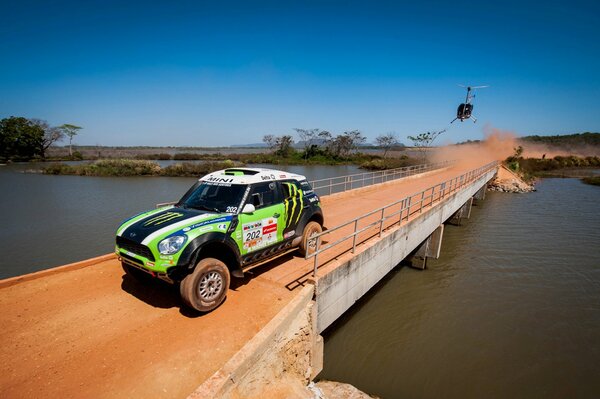
POLYGON ((223 216, 218 213, 173 207, 148 213, 133 222, 127 221, 121 225, 117 235, 147 245, 154 238, 180 230, 186 232, 190 230, 190 226, 212 223, 215 222, 214 219, 223 219, 223 216))

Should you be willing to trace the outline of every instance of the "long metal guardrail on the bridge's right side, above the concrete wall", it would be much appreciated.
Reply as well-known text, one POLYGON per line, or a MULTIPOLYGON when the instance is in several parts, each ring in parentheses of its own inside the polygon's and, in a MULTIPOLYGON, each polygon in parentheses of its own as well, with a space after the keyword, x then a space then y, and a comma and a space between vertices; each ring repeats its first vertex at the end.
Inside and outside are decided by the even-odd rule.
MULTIPOLYGON (((323 231, 319 234, 314 235, 313 237, 311 237, 311 241, 316 240, 316 242, 313 241, 313 243, 315 245, 315 251, 310 254, 307 254, 304 258, 307 260, 310 258, 314 258, 313 277, 314 278, 317 277, 317 268, 319 266, 318 256, 320 254, 322 254, 323 252, 325 252, 335 246, 338 246, 339 244, 341 244, 347 240, 352 239, 351 252, 355 253, 356 245, 361 244, 361 243, 365 242, 366 240, 372 238, 373 236, 377 235, 377 234, 369 235, 368 237, 364 237, 361 241, 358 241, 359 234, 366 232, 367 230, 372 229, 374 227, 378 227, 379 228, 378 235, 379 235, 379 237, 381 237, 381 234, 383 233, 383 230, 384 230, 385 222, 387 220, 392 219, 392 218, 397 219, 396 222, 392 223, 391 225, 387 226, 386 228, 392 227, 394 225, 397 225, 398 227, 400 227, 402 225, 402 221, 408 221, 408 219, 411 216, 413 216, 415 214, 423 213, 423 208, 432 206, 434 203, 442 201, 449 194, 451 194, 457 190, 460 190, 465 185, 467 185, 471 181, 479 178, 484 173, 493 169, 497 165, 498 165, 498 161, 490 162, 487 165, 484 165, 477 169, 471 170, 467 173, 464 173, 453 179, 447 180, 443 183, 436 184, 435 186, 429 187, 417 194, 410 195, 399 201, 388 204, 382 208, 378 208, 371 212, 365 213, 365 214, 363 214, 359 217, 356 217, 352 220, 349 220, 348 222, 345 222, 339 226, 333 227, 331 229, 327 229, 326 231, 323 231), (386 211, 391 210, 395 206, 399 206, 399 209, 394 212, 386 214, 386 211), (360 221, 365 220, 373 215, 379 216, 377 218, 377 220, 375 220, 374 222, 368 223, 366 226, 361 226, 359 228, 360 221), (326 235, 330 235, 330 234, 332 234, 344 227, 350 226, 352 224, 354 226, 353 226, 353 232, 351 234, 347 234, 344 237, 338 239, 337 241, 332 242, 332 243, 327 243, 325 246, 321 247, 322 237, 324 237, 326 235)), ((340 251, 340 253, 336 253, 335 256, 339 256, 346 251, 348 251, 348 249, 342 250, 342 251, 340 251)))

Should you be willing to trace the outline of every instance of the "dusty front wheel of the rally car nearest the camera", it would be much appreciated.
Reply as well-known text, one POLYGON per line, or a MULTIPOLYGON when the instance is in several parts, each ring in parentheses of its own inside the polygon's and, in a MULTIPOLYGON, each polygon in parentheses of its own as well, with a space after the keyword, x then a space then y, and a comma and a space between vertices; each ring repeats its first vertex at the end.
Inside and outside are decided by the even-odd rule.
POLYGON ((205 258, 198 262, 193 273, 181 281, 179 293, 190 308, 210 312, 225 300, 229 281, 229 269, 225 263, 215 258, 205 258))

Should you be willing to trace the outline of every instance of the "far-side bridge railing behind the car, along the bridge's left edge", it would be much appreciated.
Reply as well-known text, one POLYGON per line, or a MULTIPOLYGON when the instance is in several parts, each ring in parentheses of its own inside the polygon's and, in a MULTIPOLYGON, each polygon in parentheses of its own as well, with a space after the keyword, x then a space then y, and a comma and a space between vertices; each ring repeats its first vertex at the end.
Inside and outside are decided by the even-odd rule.
POLYGON ((453 161, 444 161, 422 165, 405 166, 402 168, 387 169, 376 172, 357 173, 353 175, 330 177, 310 181, 310 185, 318 195, 331 195, 341 193, 355 188, 371 186, 373 184, 385 183, 390 180, 412 176, 430 170, 444 168, 453 161))

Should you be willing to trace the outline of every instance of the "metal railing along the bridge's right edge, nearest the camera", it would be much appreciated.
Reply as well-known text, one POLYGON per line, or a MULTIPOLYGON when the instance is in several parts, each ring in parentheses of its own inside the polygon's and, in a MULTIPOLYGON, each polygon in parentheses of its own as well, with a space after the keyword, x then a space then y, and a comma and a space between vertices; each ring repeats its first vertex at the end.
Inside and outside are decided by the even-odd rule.
POLYGON ((497 166, 498 161, 490 162, 487 165, 463 173, 462 175, 454 177, 443 183, 426 188, 417 194, 409 195, 399 201, 367 212, 339 226, 327 229, 326 231, 314 235, 311 237, 309 245, 307 246, 309 248, 312 247, 315 250, 305 256, 305 259, 307 260, 314 258, 313 277, 317 277, 319 255, 331 250, 334 247, 337 247, 337 251, 332 251, 333 254, 330 253, 330 259, 326 261, 340 256, 348 251, 355 253, 356 246, 358 244, 361 244, 377 235, 381 237, 381 234, 386 228, 394 225, 397 225, 398 227, 401 226, 403 221, 408 221, 411 216, 423 213, 424 208, 431 207, 433 204, 442 201, 449 194, 460 190, 470 182, 478 179, 480 176, 497 166), (331 243, 323 243, 324 237, 331 237, 333 233, 339 232, 343 229, 349 230, 349 232, 340 233, 343 235, 336 241, 331 243), (349 240, 352 240, 351 246, 349 243, 347 243, 345 246, 342 245, 349 240))

